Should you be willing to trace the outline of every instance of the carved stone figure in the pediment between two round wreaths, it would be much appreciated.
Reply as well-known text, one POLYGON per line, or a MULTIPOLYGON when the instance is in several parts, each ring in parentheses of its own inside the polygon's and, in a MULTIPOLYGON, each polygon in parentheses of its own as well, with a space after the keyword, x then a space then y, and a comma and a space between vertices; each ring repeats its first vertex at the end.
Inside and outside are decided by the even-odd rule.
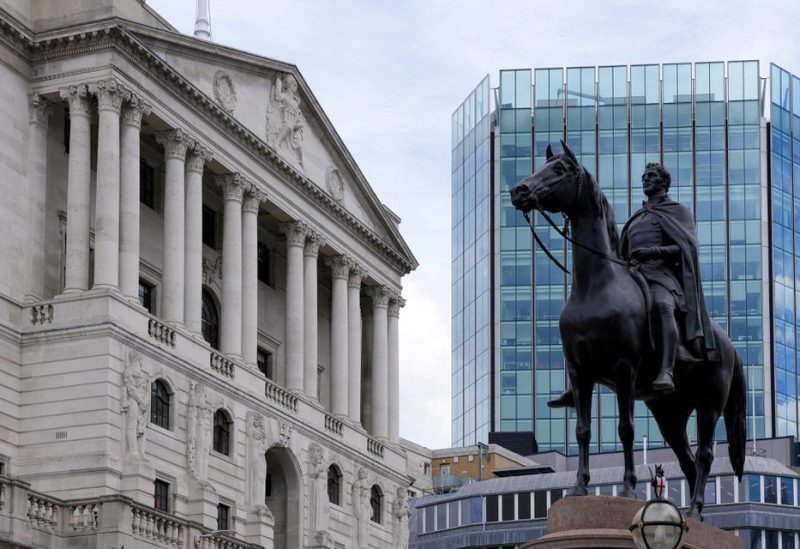
POLYGON ((297 80, 277 76, 267 105, 267 143, 303 166, 303 113, 297 80))

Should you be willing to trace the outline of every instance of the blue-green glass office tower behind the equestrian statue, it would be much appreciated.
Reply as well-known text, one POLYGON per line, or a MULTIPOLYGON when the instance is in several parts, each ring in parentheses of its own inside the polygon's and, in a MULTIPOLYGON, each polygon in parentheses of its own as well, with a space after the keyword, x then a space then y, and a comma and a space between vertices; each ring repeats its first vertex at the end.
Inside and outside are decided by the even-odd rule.
MULTIPOLYGON (((572 412, 546 406, 565 387, 558 317, 570 280, 508 196, 561 139, 597 177, 620 229, 644 199, 645 164, 669 169, 670 195, 697 221, 708 310, 745 366, 748 436, 798 436, 800 80, 731 61, 503 70, 497 88, 484 78, 455 111, 453 445, 533 431, 540 451, 577 449, 572 412)), ((534 222, 568 265, 567 243, 534 222)), ((620 449, 605 388, 593 416, 593 451, 620 449)), ((643 435, 663 444, 642 403, 635 428, 638 445, 643 435)))

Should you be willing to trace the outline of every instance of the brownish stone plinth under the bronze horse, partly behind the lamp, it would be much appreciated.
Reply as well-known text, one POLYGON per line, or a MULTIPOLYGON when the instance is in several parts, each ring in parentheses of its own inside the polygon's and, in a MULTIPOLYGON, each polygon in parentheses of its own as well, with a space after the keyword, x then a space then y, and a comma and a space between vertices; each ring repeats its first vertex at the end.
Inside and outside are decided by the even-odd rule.
MULTIPOLYGON (((547 512, 547 535, 521 549, 583 549, 615 547, 636 549, 628 527, 644 501, 611 496, 564 498, 547 512)), ((686 518, 689 531, 684 549, 731 549, 742 547, 738 536, 686 518)))

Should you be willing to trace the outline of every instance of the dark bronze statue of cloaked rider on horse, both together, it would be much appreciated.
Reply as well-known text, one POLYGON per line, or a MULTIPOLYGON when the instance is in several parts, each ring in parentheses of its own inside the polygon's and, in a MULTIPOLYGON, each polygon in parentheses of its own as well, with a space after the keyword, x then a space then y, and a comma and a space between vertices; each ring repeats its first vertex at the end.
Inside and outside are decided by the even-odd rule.
POLYGON ((691 212, 667 196, 669 174, 649 164, 648 201, 617 235, 613 211, 594 177, 562 141, 547 161, 511 189, 514 206, 561 212, 572 226, 572 288, 559 319, 567 393, 551 405, 576 408, 578 473, 571 495, 586 495, 593 388, 617 394, 625 473, 623 496, 635 497, 633 404, 644 400, 689 483, 689 514, 701 516, 714 429, 725 413, 728 453, 741 479, 746 441, 741 361, 709 317, 700 284, 691 212), (651 319, 653 322, 651 322, 651 319), (697 452, 686 424, 697 412, 697 452))

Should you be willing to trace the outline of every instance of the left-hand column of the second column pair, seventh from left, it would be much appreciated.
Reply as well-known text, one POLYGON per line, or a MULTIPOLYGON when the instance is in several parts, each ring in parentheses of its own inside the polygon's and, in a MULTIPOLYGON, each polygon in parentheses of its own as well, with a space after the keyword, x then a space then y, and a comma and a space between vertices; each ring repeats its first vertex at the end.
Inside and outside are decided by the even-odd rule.
POLYGON ((239 174, 220 178, 225 196, 222 219, 222 318, 220 351, 242 356, 242 197, 246 182, 239 174))

